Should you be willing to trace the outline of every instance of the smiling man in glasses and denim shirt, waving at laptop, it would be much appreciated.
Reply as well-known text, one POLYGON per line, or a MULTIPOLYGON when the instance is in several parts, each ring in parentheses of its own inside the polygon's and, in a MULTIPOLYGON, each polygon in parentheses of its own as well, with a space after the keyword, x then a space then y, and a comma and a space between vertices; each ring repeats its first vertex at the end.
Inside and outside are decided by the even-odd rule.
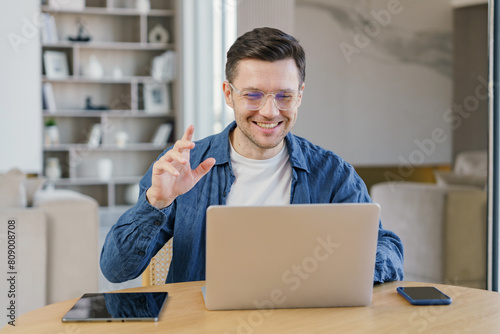
MULTIPOLYGON (((192 142, 189 126, 141 180, 137 204, 111 228, 101 269, 111 282, 139 276, 172 237, 167 283, 205 279, 210 205, 370 202, 353 167, 290 133, 304 91, 305 54, 277 29, 239 37, 227 53, 226 103, 236 121, 192 142)), ((403 279, 403 246, 379 226, 375 282, 403 279)))

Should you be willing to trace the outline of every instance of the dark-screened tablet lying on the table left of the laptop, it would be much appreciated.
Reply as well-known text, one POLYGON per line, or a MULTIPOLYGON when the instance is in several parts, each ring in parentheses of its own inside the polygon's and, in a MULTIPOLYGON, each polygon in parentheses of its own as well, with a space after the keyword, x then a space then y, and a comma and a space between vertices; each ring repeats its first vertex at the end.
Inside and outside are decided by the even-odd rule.
POLYGON ((86 293, 62 322, 158 321, 168 292, 86 293))

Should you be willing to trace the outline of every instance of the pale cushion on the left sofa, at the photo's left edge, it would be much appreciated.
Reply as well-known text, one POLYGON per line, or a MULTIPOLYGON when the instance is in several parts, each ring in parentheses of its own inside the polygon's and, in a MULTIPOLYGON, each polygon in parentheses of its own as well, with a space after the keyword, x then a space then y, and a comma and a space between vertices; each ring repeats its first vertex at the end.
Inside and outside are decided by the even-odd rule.
POLYGON ((23 208, 27 206, 26 175, 19 169, 11 169, 0 175, 0 208, 23 208))

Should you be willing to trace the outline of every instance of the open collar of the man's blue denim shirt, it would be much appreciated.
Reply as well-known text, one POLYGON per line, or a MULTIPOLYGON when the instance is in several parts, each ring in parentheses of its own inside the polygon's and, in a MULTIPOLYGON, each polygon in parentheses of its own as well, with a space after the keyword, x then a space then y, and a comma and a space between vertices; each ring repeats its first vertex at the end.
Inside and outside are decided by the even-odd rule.
MULTIPOLYGON (((223 165, 231 161, 229 132, 235 128, 236 122, 233 121, 220 133, 220 135, 215 136, 213 141, 214 150, 212 151, 212 156, 216 161, 216 165, 223 165)), ((285 141, 292 168, 300 168, 309 172, 304 152, 302 151, 302 147, 300 146, 297 138, 289 132, 285 137, 285 141)))

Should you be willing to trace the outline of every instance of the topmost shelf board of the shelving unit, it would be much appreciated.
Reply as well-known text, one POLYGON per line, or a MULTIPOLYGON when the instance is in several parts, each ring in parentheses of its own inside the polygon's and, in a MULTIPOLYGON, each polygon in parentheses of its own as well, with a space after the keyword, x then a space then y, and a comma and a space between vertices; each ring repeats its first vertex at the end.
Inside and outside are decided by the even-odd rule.
POLYGON ((87 7, 79 9, 57 9, 50 6, 42 6, 42 12, 46 13, 64 13, 64 14, 83 14, 83 15, 110 15, 110 16, 156 16, 156 17, 172 17, 175 12, 171 9, 151 9, 146 13, 142 13, 135 8, 104 8, 104 7, 87 7))

